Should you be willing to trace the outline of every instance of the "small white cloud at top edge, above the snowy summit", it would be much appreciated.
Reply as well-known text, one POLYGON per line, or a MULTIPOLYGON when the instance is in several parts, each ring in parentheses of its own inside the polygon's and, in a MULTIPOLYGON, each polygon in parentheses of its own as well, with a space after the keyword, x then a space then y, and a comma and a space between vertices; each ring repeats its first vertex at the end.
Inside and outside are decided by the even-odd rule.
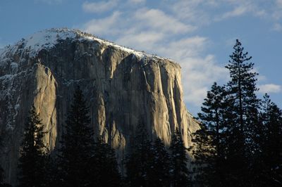
POLYGON ((104 11, 109 11, 115 6, 117 6, 118 0, 109 1, 99 1, 99 2, 88 2, 85 1, 82 4, 82 9, 88 13, 102 13, 104 11))

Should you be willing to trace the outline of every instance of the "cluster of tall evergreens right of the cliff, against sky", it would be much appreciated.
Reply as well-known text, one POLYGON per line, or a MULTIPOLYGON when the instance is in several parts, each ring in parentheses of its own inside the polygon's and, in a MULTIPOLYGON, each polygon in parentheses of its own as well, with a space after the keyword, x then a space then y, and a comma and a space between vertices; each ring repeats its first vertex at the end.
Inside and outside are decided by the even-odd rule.
POLYGON ((252 57, 236 40, 226 68, 198 114, 192 154, 197 186, 282 186, 282 111, 269 95, 257 98, 252 57))

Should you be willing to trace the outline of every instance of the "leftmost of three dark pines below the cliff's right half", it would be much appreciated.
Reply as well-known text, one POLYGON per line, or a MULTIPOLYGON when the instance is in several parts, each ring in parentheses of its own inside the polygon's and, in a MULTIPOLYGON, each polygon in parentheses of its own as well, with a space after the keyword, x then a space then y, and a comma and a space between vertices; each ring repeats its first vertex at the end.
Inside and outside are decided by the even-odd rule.
POLYGON ((129 186, 149 186, 149 169, 152 166, 152 143, 143 124, 137 126, 133 148, 126 158, 126 174, 129 186))

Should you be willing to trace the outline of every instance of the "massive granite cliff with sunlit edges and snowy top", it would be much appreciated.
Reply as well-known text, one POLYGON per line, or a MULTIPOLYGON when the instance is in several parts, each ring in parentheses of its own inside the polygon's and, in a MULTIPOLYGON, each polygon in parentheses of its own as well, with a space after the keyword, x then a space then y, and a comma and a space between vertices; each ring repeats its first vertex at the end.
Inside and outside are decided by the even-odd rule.
POLYGON ((37 32, 0 53, 1 165, 9 183, 16 181, 30 106, 37 108, 48 131, 44 142, 54 150, 78 85, 87 98, 95 136, 111 143, 120 163, 137 124, 145 124, 149 138, 158 136, 166 145, 178 127, 187 147, 199 128, 183 102, 180 66, 171 60, 66 29, 37 32))

